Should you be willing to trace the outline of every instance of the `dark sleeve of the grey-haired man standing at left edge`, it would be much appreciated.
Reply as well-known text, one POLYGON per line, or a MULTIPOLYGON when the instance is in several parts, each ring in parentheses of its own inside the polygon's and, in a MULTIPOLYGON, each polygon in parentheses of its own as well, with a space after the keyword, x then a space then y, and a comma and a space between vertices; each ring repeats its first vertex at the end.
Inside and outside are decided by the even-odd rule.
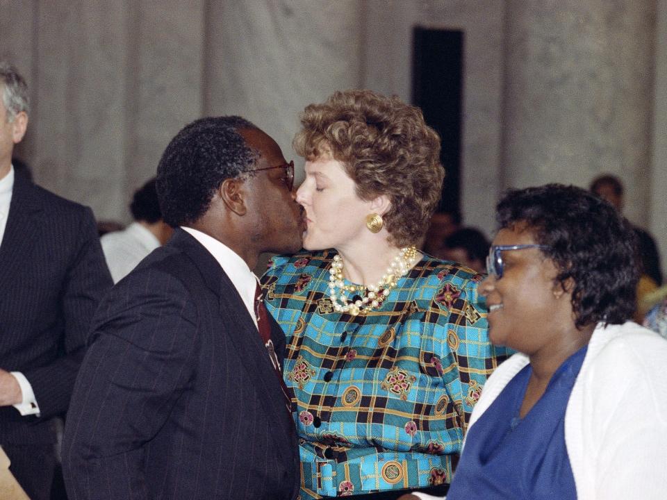
POLYGON ((90 208, 81 211, 78 234, 79 248, 67 269, 60 299, 65 335, 59 349, 64 351, 64 356, 49 365, 24 372, 33 387, 40 414, 45 418, 67 410, 90 322, 100 299, 113 284, 90 208))

